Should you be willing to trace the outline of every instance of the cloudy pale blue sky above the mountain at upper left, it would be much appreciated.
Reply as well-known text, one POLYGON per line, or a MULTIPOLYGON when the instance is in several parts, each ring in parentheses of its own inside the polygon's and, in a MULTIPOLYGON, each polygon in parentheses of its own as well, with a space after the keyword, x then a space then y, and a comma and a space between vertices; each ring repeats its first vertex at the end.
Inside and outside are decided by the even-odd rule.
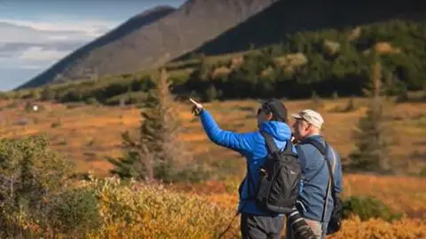
POLYGON ((157 5, 184 0, 0 0, 0 92, 157 5))

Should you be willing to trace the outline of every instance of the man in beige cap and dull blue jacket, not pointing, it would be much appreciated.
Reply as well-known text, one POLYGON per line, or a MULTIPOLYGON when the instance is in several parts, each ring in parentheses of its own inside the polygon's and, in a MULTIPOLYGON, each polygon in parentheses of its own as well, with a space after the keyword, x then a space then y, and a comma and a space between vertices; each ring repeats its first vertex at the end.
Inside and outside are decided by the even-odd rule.
MULTIPOLYGON (((299 212, 303 215, 312 231, 319 239, 325 238, 327 225, 333 210, 334 200, 331 195, 331 184, 327 163, 317 147, 309 140, 319 141, 325 147, 325 140, 320 135, 324 119, 318 112, 305 109, 292 114, 296 119, 293 125, 294 136, 298 141, 297 155, 304 175, 304 187, 299 193, 299 212), (328 188, 328 193, 327 193, 328 188), (327 197, 327 203, 326 202, 327 197)), ((342 192, 342 166, 335 149, 328 145, 327 158, 334 172, 335 191, 342 192)), ((293 238, 291 227, 288 227, 286 239, 293 238)))

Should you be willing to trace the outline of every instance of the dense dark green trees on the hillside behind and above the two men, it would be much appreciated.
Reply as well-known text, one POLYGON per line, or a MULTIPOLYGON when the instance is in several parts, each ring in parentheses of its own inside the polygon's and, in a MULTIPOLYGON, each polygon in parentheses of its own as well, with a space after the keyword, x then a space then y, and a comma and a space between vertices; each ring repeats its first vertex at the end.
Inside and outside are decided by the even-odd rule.
POLYGON ((361 95, 371 52, 379 54, 389 93, 420 90, 426 76, 426 24, 392 20, 343 31, 300 32, 233 62, 200 63, 185 86, 205 100, 264 96, 361 95), (218 73, 218 74, 217 74, 218 73))

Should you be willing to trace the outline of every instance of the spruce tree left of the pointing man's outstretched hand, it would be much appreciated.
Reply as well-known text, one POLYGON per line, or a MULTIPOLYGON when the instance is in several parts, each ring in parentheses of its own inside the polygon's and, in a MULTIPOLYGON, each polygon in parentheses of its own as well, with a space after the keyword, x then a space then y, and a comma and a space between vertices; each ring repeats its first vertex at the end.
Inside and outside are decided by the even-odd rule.
POLYGON ((170 82, 162 69, 154 89, 149 92, 146 108, 141 111, 138 139, 132 139, 128 131, 122 133, 125 154, 118 160, 108 158, 115 166, 111 172, 122 178, 173 179, 177 163, 190 156, 184 142, 177 139, 181 127, 174 101, 170 82))

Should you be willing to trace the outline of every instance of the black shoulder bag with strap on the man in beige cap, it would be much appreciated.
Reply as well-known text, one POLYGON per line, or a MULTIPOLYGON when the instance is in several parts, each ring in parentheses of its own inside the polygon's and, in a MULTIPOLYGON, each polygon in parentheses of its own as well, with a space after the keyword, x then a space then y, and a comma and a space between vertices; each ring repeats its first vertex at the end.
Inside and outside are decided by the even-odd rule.
MULTIPOLYGON (((307 139, 304 141, 304 144, 312 144, 312 146, 316 147, 319 150, 321 155, 324 155, 324 160, 327 163, 328 175, 331 179, 331 195, 334 199, 333 211, 331 212, 330 221, 328 222, 327 227, 327 235, 332 235, 340 230, 342 227, 342 217, 343 217, 343 201, 339 195, 335 192, 335 178, 333 176, 333 170, 331 168, 331 164, 328 161, 327 151, 328 144, 325 142, 326 147, 324 147, 318 140, 315 139, 307 139)), ((327 184, 327 192, 328 192, 328 184, 327 184)), ((326 202, 327 203, 327 199, 326 202)), ((326 204, 324 203, 324 210, 322 211, 322 221, 324 221, 325 213, 326 213, 326 204)))

